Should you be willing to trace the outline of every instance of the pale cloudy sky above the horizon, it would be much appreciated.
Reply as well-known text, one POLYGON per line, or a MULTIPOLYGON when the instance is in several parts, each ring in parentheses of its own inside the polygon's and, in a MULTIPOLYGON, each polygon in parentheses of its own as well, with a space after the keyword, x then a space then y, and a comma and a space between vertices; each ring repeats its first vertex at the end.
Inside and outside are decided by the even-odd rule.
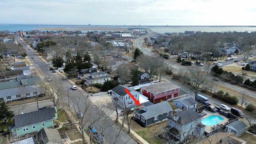
POLYGON ((252 0, 0 0, 0 24, 256 26, 252 0))

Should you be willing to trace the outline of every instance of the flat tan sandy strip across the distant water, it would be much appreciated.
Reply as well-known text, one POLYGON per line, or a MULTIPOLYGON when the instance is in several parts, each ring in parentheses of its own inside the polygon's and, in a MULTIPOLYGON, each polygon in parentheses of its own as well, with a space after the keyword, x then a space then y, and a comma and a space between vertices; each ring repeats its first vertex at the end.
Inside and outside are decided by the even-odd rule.
POLYGON ((126 31, 128 27, 112 27, 112 26, 60 26, 58 28, 35 28, 36 30, 80 30, 80 31, 126 31))

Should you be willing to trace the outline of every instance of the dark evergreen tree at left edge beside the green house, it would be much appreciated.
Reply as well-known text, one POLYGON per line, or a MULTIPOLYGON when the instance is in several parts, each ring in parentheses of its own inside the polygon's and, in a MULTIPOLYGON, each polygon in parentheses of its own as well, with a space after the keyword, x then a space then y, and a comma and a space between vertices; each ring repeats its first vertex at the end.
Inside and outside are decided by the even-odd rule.
POLYGON ((0 102, 0 120, 4 120, 4 123, 7 123, 8 119, 14 117, 14 112, 10 110, 4 101, 0 102))

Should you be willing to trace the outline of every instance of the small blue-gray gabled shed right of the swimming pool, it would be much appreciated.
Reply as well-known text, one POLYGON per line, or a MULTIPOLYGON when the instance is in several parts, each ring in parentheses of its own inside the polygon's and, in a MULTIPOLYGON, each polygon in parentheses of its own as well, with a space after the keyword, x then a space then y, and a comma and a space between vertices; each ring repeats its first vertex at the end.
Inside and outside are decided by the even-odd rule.
POLYGON ((246 132, 247 125, 239 120, 235 120, 226 125, 226 132, 234 132, 236 136, 240 136, 246 132))

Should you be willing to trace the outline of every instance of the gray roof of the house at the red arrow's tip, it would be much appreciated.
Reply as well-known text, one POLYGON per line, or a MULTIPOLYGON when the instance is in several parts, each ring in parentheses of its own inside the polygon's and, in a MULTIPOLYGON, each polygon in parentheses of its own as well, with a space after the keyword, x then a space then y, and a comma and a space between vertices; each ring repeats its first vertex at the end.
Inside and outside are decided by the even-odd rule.
POLYGON ((168 101, 159 102, 151 106, 146 106, 140 110, 145 110, 145 109, 147 111, 142 113, 141 116, 143 116, 146 120, 149 118, 153 118, 154 116, 159 116, 161 114, 164 114, 166 112, 170 112, 173 110, 170 104, 168 103, 168 101))

